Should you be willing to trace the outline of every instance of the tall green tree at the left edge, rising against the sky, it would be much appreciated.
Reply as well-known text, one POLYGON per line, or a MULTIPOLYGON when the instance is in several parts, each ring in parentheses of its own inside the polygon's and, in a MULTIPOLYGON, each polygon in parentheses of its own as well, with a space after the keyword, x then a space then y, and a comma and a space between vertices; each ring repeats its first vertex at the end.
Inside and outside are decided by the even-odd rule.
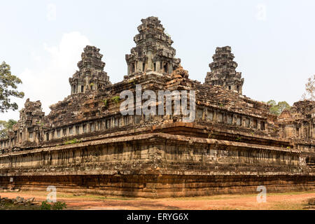
POLYGON ((0 64, 0 113, 8 110, 17 110, 18 104, 11 102, 11 97, 23 98, 24 92, 19 92, 18 84, 22 81, 17 76, 13 76, 10 71, 10 65, 6 62, 0 64))

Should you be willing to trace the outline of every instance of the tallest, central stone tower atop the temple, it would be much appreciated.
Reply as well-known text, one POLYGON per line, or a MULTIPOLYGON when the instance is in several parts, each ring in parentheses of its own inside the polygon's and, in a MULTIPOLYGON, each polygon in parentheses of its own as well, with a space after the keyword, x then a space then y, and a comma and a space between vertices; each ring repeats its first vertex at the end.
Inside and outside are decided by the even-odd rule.
POLYGON ((181 59, 174 58, 176 50, 171 46, 172 39, 165 34, 157 17, 142 19, 141 22, 139 34, 134 36, 137 46, 126 55, 128 76, 125 78, 150 71, 170 75, 181 63, 181 59))

